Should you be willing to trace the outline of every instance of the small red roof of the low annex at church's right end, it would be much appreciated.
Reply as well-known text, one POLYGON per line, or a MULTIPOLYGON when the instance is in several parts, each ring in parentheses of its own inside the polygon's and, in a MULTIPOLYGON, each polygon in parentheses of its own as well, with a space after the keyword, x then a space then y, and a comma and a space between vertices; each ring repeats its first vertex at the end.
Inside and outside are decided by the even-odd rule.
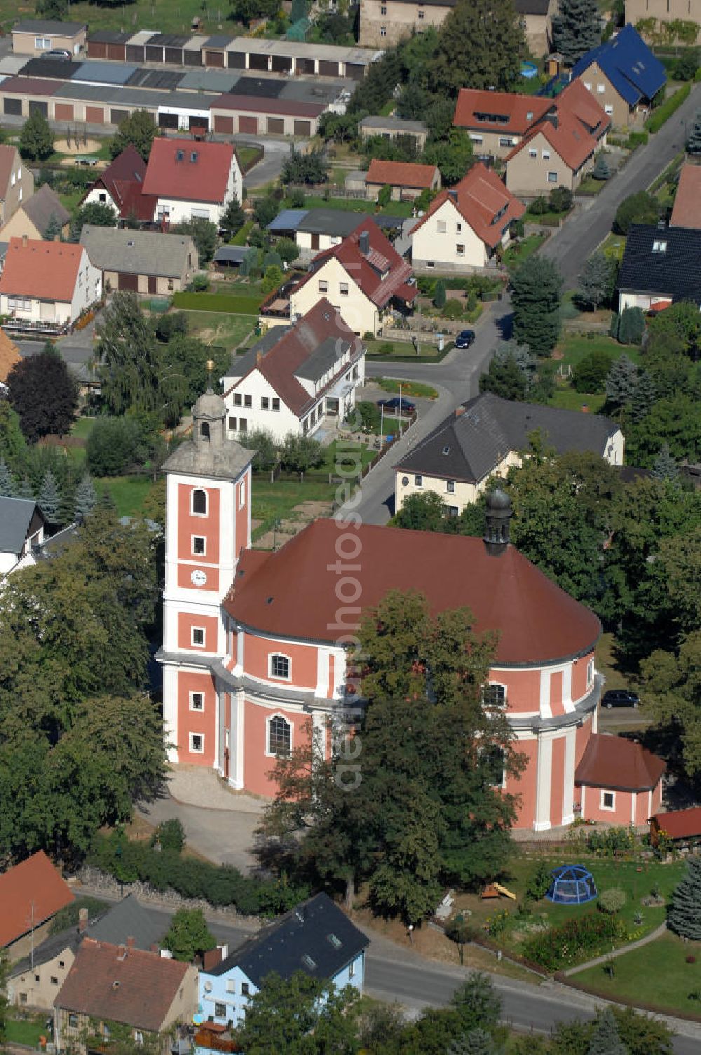
POLYGON ((666 766, 657 754, 623 736, 592 733, 575 773, 576 784, 620 791, 657 787, 666 766))

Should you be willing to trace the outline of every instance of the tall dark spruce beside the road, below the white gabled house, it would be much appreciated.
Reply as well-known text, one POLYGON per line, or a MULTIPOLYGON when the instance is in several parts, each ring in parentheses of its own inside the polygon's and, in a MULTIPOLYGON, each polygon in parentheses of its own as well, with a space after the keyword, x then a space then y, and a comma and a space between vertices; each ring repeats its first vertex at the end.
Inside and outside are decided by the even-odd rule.
POLYGON ((533 354, 548 356, 560 337, 562 275, 543 256, 525 261, 511 276, 513 337, 533 354))

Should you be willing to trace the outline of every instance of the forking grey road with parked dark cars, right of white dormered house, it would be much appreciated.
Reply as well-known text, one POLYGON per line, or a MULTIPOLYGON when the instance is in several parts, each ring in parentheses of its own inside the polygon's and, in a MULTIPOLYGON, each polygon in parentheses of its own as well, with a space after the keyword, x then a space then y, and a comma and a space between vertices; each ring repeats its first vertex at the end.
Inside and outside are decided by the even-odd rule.
MULTIPOLYGON (((476 337, 472 347, 453 349, 442 363, 366 362, 368 378, 384 376, 425 381, 437 389, 439 399, 428 404, 427 410, 420 414, 416 424, 405 433, 390 454, 363 481, 363 499, 355 509, 365 523, 387 523, 394 513, 392 465, 428 436, 460 403, 478 395, 480 375, 486 368, 498 342, 510 332, 510 303, 505 298, 491 304, 475 326, 476 337)), ((408 350, 411 350, 411 345, 408 345, 408 350)))

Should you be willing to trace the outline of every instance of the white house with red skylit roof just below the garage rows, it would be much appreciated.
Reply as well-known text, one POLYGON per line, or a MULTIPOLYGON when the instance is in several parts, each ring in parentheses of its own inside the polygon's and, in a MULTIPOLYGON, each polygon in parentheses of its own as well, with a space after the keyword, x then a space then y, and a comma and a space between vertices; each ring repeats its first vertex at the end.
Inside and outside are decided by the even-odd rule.
POLYGON ((158 223, 201 218, 218 225, 232 197, 241 200, 241 188, 232 143, 154 139, 142 193, 156 199, 153 218, 158 223))

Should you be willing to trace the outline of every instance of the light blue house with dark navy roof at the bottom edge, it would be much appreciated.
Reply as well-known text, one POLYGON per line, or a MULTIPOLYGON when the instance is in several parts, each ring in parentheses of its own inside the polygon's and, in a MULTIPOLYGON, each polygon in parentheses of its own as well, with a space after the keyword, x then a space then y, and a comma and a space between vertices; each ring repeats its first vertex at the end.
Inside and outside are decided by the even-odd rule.
MULTIPOLYGON (((207 1022, 234 1028, 246 1005, 276 973, 290 979, 303 971, 337 989, 361 993, 369 939, 326 894, 317 894, 287 913, 231 956, 199 975, 198 1014, 207 1022)), ((207 1046, 205 1046, 207 1047, 207 1046)))

